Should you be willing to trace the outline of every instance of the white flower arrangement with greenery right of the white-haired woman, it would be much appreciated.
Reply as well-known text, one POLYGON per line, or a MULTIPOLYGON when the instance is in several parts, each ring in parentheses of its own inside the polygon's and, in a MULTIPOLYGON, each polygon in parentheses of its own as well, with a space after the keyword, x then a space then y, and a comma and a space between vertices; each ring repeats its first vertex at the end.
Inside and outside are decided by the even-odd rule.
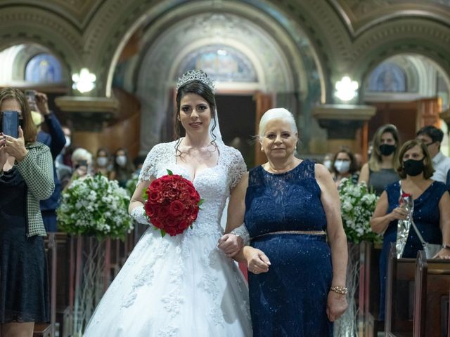
POLYGON ((347 240, 358 244, 361 241, 381 242, 379 234, 372 232, 370 220, 378 197, 368 190, 365 183, 354 184, 345 178, 338 187, 340 211, 347 240))

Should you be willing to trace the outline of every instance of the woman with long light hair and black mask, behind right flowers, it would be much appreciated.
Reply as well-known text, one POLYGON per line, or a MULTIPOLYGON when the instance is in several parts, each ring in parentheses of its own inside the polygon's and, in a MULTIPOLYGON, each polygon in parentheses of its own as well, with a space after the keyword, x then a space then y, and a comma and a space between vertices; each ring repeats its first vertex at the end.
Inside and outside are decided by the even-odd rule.
POLYGON ((394 168, 399 144, 399 131, 394 125, 380 126, 373 136, 371 159, 363 165, 359 183, 366 183, 368 187, 373 187, 377 195, 380 195, 387 185, 399 180, 394 168))

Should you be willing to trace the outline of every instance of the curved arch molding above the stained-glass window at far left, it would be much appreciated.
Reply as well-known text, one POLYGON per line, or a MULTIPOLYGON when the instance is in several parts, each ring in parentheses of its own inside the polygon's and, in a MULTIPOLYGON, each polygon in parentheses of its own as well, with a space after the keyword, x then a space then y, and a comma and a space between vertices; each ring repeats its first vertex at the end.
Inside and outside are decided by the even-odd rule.
POLYGON ((38 8, 10 6, 0 11, 0 22, 0 50, 17 44, 39 44, 68 70, 82 65, 82 37, 58 15, 38 8))

